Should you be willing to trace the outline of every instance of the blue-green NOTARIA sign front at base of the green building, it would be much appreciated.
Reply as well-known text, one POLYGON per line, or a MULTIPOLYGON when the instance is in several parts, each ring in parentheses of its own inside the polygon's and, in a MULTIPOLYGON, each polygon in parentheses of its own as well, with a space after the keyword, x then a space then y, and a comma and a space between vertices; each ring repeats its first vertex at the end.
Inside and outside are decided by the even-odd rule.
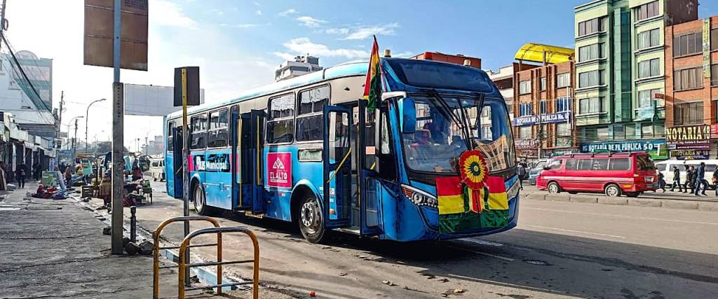
POLYGON ((651 155, 653 160, 666 160, 668 158, 666 141, 663 139, 581 143, 580 150, 582 153, 645 151, 651 155))

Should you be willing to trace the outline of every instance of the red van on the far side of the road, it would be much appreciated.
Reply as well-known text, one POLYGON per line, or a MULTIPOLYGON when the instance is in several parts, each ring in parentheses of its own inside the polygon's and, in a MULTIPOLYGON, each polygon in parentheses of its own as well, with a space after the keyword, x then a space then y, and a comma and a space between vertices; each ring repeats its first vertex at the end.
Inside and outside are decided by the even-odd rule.
POLYGON ((607 196, 635 197, 655 191, 656 166, 645 152, 574 153, 556 156, 536 178, 539 190, 604 192, 607 196))

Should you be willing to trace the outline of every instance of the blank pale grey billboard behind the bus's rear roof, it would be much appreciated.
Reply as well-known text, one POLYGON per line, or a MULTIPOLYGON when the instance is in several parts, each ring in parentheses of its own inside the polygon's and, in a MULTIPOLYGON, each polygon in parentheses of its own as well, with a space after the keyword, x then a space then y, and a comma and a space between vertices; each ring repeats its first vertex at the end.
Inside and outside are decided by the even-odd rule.
MULTIPOLYGON (((182 107, 174 107, 174 87, 125 84, 125 114, 165 116, 182 107)), ((205 90, 200 90, 200 105, 205 103, 205 90)))

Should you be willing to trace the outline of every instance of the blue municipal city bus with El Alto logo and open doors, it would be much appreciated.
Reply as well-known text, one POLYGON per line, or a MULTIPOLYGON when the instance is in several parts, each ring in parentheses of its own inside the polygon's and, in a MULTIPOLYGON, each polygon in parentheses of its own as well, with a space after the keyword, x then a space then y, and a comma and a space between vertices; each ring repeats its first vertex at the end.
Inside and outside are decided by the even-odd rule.
MULTIPOLYGON (((294 222, 309 242, 327 229, 408 242, 516 227, 513 137, 505 101, 485 72, 431 60, 380 63, 384 92, 373 111, 362 99, 367 62, 190 108, 187 171, 197 213, 294 222), (466 213, 439 213, 437 180, 458 176, 457 161, 470 148, 503 183, 503 222, 491 210, 471 214, 467 201, 454 207, 466 213)), ((181 123, 181 113, 164 122, 167 193, 175 198, 183 187, 181 123)))

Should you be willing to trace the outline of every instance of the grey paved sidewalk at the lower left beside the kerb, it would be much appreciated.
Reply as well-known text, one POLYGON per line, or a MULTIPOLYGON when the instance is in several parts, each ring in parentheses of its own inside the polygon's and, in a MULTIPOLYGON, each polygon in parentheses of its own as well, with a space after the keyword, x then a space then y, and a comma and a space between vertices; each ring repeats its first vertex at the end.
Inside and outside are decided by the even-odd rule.
MULTIPOLYGON (((25 187, 0 193, 0 298, 151 298, 151 256, 110 255, 101 217, 74 199, 25 200, 37 184, 25 187)), ((177 270, 162 271, 161 297, 176 298, 177 270)))

